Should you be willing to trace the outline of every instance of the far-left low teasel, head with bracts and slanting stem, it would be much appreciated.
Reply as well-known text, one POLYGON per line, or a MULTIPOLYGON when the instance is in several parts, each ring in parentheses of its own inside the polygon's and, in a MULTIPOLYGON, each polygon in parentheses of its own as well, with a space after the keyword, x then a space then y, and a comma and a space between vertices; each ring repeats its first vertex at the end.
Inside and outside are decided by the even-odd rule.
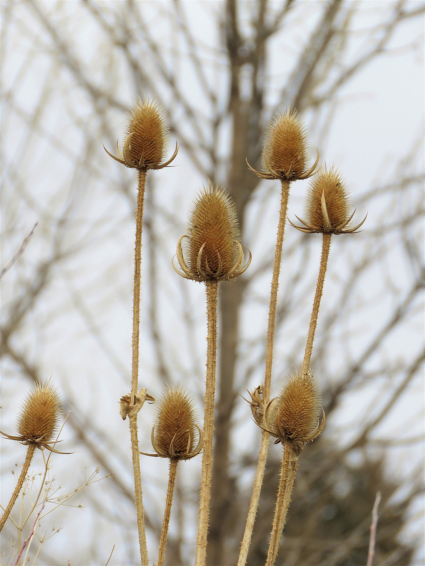
POLYGON ((59 452, 56 448, 51 446, 51 444, 54 444, 52 436, 56 431, 60 413, 61 404, 59 401, 59 393, 52 381, 49 380, 43 384, 36 383, 31 391, 27 393, 22 408, 20 409, 17 425, 18 435, 13 436, 0 431, 0 434, 5 436, 5 438, 17 440, 21 444, 28 446, 27 455, 25 456, 24 465, 22 466, 22 471, 16 483, 15 490, 0 520, 0 532, 3 526, 5 526, 7 517, 10 515, 19 492, 22 489, 35 449, 46 449, 57 454, 69 453, 59 452))

